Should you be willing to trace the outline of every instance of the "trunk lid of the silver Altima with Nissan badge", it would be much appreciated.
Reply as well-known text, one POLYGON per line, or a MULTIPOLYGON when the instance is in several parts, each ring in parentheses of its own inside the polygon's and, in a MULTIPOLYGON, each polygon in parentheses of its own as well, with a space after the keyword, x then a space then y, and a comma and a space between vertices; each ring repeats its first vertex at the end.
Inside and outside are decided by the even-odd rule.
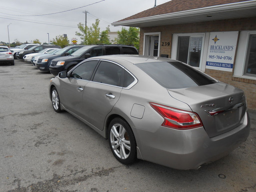
POLYGON ((169 94, 196 112, 208 136, 214 137, 242 124, 246 112, 244 92, 234 86, 217 82, 204 86, 168 89, 169 94))

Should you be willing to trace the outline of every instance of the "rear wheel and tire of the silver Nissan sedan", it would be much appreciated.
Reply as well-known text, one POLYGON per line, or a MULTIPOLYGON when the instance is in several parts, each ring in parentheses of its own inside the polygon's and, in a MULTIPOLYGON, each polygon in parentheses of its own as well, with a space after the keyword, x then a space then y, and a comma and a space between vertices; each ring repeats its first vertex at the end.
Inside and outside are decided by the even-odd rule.
POLYGON ((122 164, 132 164, 137 159, 136 140, 129 124, 114 118, 108 127, 108 143, 115 158, 122 164))

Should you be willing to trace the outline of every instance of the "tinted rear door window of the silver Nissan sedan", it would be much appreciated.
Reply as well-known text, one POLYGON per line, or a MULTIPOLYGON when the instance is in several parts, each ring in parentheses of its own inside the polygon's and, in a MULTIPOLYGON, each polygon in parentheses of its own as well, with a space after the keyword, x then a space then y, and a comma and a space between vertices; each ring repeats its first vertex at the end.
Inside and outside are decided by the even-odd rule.
POLYGON ((93 81, 114 86, 122 86, 121 76, 123 70, 123 68, 114 63, 102 61, 96 70, 93 81))

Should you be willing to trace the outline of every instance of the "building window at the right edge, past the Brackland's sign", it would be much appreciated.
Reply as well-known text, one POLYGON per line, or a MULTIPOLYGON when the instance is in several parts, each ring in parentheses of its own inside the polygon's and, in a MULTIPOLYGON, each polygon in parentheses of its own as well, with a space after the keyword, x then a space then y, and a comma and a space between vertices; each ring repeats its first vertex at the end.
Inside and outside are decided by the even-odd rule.
POLYGON ((249 35, 244 75, 256 77, 256 34, 249 35))

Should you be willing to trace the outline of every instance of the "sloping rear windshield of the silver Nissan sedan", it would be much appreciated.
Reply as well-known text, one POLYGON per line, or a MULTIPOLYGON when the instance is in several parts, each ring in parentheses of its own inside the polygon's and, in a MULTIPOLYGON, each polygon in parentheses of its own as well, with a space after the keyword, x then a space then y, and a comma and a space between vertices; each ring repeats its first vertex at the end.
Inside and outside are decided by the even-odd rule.
POLYGON ((216 83, 206 74, 181 62, 150 62, 136 64, 156 82, 168 89, 188 88, 216 83))

